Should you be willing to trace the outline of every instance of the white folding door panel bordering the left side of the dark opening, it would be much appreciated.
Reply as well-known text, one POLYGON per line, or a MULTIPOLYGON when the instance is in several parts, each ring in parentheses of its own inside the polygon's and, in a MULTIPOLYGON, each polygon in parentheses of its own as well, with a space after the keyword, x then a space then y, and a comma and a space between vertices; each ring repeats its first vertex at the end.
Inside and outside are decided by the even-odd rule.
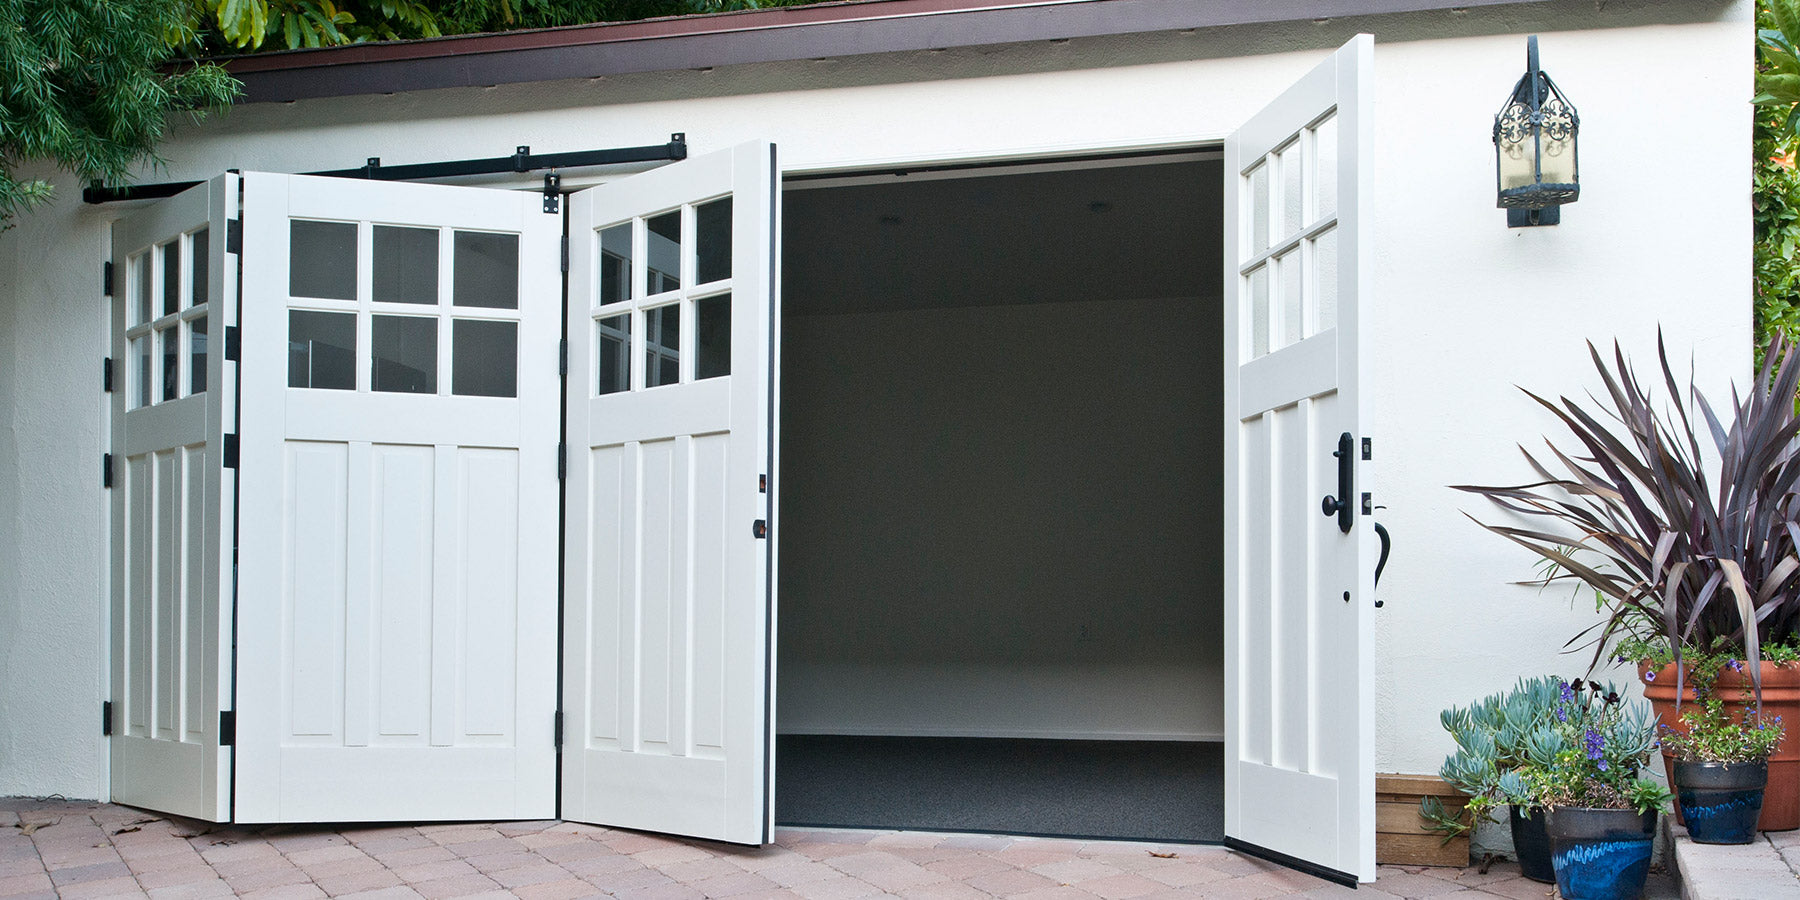
POLYGON ((770 841, 770 144, 571 196, 563 817, 770 841))

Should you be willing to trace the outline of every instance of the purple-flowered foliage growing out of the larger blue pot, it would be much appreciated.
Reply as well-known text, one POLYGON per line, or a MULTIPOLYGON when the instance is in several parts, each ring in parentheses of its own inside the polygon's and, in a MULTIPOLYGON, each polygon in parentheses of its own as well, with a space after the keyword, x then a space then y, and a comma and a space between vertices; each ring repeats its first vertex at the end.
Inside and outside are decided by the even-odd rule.
POLYGON ((1519 770, 1534 806, 1665 810, 1672 796, 1643 778, 1656 751, 1656 725, 1647 704, 1625 700, 1615 686, 1564 684, 1555 711, 1557 749, 1519 770))

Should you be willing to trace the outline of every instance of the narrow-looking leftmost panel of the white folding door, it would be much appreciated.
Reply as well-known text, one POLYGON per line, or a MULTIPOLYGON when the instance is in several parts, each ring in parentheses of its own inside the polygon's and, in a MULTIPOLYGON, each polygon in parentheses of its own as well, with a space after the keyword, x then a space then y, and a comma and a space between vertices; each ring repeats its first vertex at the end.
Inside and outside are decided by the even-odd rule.
POLYGON ((112 234, 112 797, 207 821, 230 819, 236 191, 214 178, 112 234))

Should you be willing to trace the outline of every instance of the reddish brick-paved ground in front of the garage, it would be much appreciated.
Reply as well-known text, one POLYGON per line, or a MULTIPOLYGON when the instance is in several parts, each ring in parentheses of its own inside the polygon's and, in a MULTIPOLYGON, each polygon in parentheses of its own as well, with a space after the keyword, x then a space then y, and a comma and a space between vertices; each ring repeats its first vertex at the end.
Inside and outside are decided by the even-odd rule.
MULTIPOLYGON (((106 803, 0 799, 0 896, 657 900, 1544 900, 1512 864, 1384 866, 1350 891, 1217 846, 783 830, 774 846, 574 823, 209 826, 106 803)), ((1674 896, 1667 882, 1651 895, 1674 896)))

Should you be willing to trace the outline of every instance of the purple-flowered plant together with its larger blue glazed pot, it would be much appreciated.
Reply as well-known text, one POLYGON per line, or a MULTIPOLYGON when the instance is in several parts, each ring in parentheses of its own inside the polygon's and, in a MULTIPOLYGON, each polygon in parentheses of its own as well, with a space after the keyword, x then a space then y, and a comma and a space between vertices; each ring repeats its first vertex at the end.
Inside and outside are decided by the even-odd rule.
POLYGON ((1656 749, 1649 706, 1616 689, 1564 686, 1555 738, 1534 747, 1519 778, 1546 810, 1550 864, 1564 900, 1634 900, 1651 873, 1656 814, 1669 790, 1643 776, 1656 749))

